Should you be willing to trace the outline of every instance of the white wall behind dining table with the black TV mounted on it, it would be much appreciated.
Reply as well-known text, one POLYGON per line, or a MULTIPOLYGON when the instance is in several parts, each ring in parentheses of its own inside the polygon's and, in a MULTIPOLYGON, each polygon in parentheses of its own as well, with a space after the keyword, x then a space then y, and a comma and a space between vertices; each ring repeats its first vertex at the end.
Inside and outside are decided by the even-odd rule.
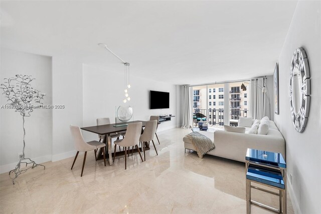
MULTIPOLYGON (((131 100, 125 105, 133 108, 133 120, 149 120, 151 115, 176 115, 176 86, 163 82, 135 77, 130 73, 131 100), (170 109, 149 109, 149 90, 170 92, 170 109)), ((124 105, 124 73, 83 65, 83 126, 96 126, 96 119, 107 117, 115 122, 115 108, 124 105)), ((176 118, 158 126, 157 132, 175 128, 176 118)), ((86 140, 97 140, 97 135, 83 132, 86 140)))

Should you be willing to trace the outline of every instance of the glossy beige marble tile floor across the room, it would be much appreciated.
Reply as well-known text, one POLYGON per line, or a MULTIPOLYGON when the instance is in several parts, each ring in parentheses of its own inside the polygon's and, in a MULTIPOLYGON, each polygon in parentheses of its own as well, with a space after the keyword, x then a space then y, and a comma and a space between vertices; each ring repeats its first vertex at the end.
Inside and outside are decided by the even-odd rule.
MULTIPOLYGON (((151 147, 139 155, 116 157, 106 167, 87 153, 73 170, 73 157, 46 162, 20 175, 16 184, 0 175, 0 213, 246 213, 245 164, 196 152, 184 153, 189 129, 159 132, 158 156, 151 147)), ((255 200, 278 206, 278 197, 252 190, 255 200)), ((287 197, 288 213, 293 213, 287 197)), ((252 213, 271 213, 252 205, 252 213)))

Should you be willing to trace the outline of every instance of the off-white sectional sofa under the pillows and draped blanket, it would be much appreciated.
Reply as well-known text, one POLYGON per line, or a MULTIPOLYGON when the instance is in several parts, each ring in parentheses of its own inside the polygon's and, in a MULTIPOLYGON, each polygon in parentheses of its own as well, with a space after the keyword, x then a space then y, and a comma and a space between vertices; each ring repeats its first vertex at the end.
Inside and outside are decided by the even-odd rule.
MULTIPOLYGON (((285 157, 285 141, 273 121, 268 121, 269 129, 266 135, 235 133, 226 131, 204 132, 201 134, 214 141, 215 149, 207 154, 245 162, 247 148, 282 153, 285 157)), ((190 137, 183 138, 185 149, 195 150, 190 137)))

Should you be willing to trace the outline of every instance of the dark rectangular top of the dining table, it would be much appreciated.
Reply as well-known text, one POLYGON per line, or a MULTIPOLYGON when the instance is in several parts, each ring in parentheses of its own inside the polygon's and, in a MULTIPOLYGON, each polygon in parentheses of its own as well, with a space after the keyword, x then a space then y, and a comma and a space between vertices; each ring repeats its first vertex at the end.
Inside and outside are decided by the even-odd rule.
POLYGON ((82 130, 92 132, 95 134, 99 135, 106 135, 106 134, 111 134, 111 133, 116 133, 116 132, 121 132, 121 131, 126 131, 127 126, 119 126, 119 125, 124 125, 124 124, 131 124, 131 123, 142 123, 142 127, 145 127, 146 121, 128 121, 125 123, 117 123, 117 124, 108 124, 108 125, 100 125, 100 126, 90 126, 90 127, 83 127, 80 128, 82 130), (114 127, 114 126, 117 127, 114 127))

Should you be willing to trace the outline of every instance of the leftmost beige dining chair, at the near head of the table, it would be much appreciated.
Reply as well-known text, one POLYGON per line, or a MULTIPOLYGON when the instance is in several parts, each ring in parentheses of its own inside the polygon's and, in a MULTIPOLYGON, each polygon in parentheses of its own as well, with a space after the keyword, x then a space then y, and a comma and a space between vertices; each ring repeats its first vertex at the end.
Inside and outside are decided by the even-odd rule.
MULTIPOLYGON (((74 162, 72 163, 71 169, 74 167, 74 164, 75 164, 75 161, 77 159, 79 152, 85 152, 84 162, 82 163, 81 176, 80 176, 80 177, 82 177, 82 173, 84 171, 84 166, 85 166, 85 162, 86 162, 87 152, 92 151, 92 150, 97 150, 99 148, 102 148, 102 154, 104 156, 104 164, 106 166, 106 157, 105 157, 105 146, 106 145, 104 143, 100 143, 98 141, 90 141, 90 142, 86 143, 84 141, 84 138, 82 137, 82 134, 80 132, 80 128, 78 126, 70 125, 70 132, 71 132, 72 137, 74 138, 74 146, 75 146, 75 149, 77 150, 77 154, 74 159, 74 162)), ((97 160, 96 152, 95 152, 95 160, 97 160)))

